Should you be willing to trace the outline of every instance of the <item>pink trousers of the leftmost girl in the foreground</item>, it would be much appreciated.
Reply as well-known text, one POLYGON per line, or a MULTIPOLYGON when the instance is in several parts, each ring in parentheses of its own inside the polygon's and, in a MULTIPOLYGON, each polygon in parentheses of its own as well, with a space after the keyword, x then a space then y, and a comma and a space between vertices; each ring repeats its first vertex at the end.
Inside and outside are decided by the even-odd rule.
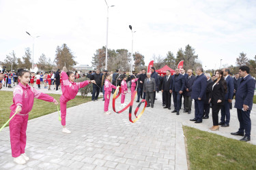
MULTIPOLYGON (((14 115, 11 112, 10 117, 14 115)), ((10 121, 10 139, 12 148, 12 157, 16 158, 20 154, 25 153, 26 141, 27 141, 27 121, 29 120, 29 114, 26 116, 20 116, 16 114, 10 121)))

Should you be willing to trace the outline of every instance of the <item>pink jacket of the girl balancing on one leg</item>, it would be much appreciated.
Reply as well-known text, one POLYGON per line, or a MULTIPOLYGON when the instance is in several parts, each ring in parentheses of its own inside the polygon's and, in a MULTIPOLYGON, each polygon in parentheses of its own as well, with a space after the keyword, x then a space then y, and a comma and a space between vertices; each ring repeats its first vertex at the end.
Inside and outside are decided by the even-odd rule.
POLYGON ((70 101, 71 99, 74 99, 74 97, 76 97, 77 92, 79 92, 79 88, 83 88, 85 86, 87 86, 88 84, 90 84, 90 82, 88 80, 84 81, 84 82, 70 82, 70 80, 68 80, 68 75, 65 71, 61 72, 61 90, 62 90, 62 95, 61 95, 61 99, 62 96, 65 97, 68 101, 70 101))

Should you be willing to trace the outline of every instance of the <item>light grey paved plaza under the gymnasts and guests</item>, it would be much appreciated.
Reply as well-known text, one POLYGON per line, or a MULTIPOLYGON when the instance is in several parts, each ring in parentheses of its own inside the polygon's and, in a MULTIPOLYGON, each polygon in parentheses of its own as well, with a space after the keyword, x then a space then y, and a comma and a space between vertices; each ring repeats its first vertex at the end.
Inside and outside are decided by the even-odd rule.
MULTIPOLYGON (((50 91, 51 92, 51 91, 50 91)), ((111 96, 112 97, 112 96, 111 96)), ((129 122, 128 109, 121 114, 103 114, 104 101, 91 101, 67 109, 67 127, 61 132, 57 112, 29 120, 26 153, 31 158, 25 165, 13 162, 9 127, 0 133, 1 169, 188 169, 182 125, 210 131, 212 118, 201 124, 190 122, 192 114, 172 114, 162 108, 161 92, 154 108, 147 107, 141 118, 129 122)), ((120 97, 119 97, 120 98, 120 97)), ((126 96, 126 103, 130 95, 126 96)), ((117 99, 117 103, 119 99, 117 99)), ((134 103, 133 112, 138 103, 134 103)), ((118 105, 118 104, 117 104, 118 105)), ((35 107, 35 106, 34 106, 35 107)), ((112 109, 112 103, 109 105, 112 109)), ((117 108, 118 109, 118 108, 117 108)), ((139 109, 141 111, 142 107, 139 109)), ((256 105, 254 105, 256 109, 256 105)), ((173 105, 171 105, 173 110, 173 105)), ((211 114, 210 114, 211 116, 211 114)), ((219 114, 220 116, 220 114, 219 114)), ((133 117, 134 119, 134 117, 133 117)), ((256 144, 255 112, 251 112, 252 141, 256 144)), ((236 109, 231 110, 227 128, 214 131, 230 135, 238 130, 236 109)))

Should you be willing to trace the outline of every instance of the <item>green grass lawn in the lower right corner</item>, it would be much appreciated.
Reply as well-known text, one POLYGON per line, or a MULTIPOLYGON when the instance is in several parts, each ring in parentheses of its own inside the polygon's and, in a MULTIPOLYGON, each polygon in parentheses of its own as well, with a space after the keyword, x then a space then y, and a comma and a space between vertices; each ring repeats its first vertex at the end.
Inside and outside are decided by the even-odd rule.
POLYGON ((256 146, 188 126, 183 129, 190 169, 256 169, 256 146))

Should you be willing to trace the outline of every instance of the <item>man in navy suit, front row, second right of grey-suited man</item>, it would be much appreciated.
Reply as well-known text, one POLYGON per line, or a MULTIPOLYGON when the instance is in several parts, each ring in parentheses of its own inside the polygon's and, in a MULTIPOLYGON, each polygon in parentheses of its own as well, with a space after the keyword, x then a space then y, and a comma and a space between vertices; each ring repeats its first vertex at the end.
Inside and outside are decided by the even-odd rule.
POLYGON ((185 77, 180 74, 179 69, 175 69, 175 75, 172 76, 170 84, 170 92, 173 93, 174 110, 171 113, 180 114, 180 107, 182 105, 180 97, 182 96, 185 86, 185 77))

